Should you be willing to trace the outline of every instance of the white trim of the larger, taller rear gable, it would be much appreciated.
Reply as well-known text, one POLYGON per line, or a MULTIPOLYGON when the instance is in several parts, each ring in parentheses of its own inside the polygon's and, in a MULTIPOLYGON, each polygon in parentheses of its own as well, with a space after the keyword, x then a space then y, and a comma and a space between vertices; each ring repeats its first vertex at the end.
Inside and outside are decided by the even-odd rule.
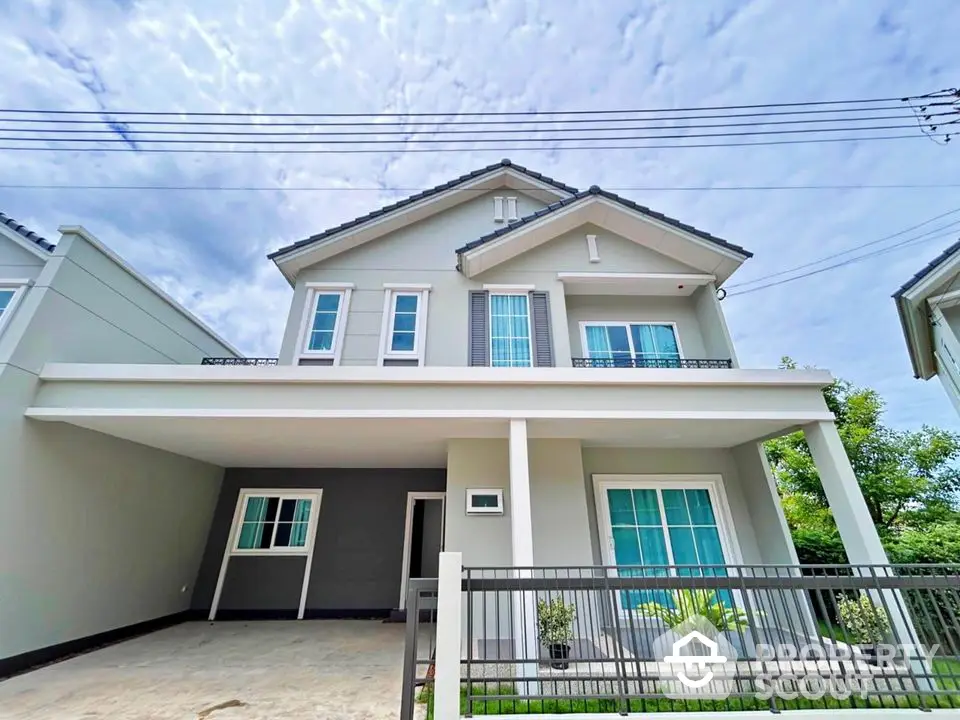
POLYGON ((287 281, 294 285, 296 284, 297 274, 305 267, 322 262, 387 233, 395 232, 443 210, 455 207, 475 197, 478 190, 492 191, 503 187, 525 192, 531 197, 548 204, 571 197, 573 194, 524 175, 510 166, 503 166, 449 190, 431 195, 376 218, 371 218, 367 222, 347 228, 322 240, 317 240, 300 248, 293 248, 289 252, 274 258, 274 262, 283 276, 287 278, 287 281))

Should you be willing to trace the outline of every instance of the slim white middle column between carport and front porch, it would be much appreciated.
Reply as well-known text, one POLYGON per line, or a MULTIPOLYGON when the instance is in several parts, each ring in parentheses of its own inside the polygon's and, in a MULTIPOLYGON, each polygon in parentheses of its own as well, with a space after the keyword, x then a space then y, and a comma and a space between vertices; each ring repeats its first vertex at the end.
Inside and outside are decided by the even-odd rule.
MULTIPOLYGON (((527 421, 510 421, 510 538, 512 565, 533 566, 533 513, 530 503, 530 461, 527 449, 527 421)), ((517 577, 531 577, 529 570, 516 571, 517 577)), ((536 658, 540 653, 537 638, 537 606, 532 592, 514 593, 513 647, 517 659, 534 662, 518 663, 517 677, 537 676, 536 658)), ((517 692, 526 695, 532 689, 519 683, 517 692)))

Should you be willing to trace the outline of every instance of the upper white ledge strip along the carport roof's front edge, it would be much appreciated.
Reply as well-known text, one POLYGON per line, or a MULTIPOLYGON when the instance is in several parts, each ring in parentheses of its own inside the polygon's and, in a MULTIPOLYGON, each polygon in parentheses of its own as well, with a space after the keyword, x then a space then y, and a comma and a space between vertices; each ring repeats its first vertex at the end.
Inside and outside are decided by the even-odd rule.
POLYGON ((678 385, 826 387, 826 370, 660 368, 271 367, 47 363, 40 379, 60 382, 318 383, 369 385, 678 385))

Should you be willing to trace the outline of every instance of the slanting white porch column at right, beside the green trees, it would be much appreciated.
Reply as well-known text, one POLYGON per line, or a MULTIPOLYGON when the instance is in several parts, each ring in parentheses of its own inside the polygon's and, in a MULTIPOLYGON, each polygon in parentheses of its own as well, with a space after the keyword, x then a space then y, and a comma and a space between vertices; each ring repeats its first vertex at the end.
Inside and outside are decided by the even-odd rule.
MULTIPOLYGON (((850 465, 847 451, 843 447, 840 433, 833 422, 816 422, 806 425, 803 434, 807 439, 810 454, 820 475, 820 484, 827 496, 827 503, 837 523, 840 539, 847 552, 851 565, 888 565, 887 553, 880 542, 880 534, 873 524, 870 510, 857 483, 857 476, 850 465)), ((859 574, 867 577, 889 575, 884 568, 863 570, 859 574)), ((890 624, 894 632, 894 642, 902 647, 905 656, 917 675, 929 677, 930 668, 918 653, 919 635, 910 619, 906 600, 897 590, 877 590, 870 592, 874 604, 885 607, 890 615, 890 624)), ((929 680, 917 679, 921 688, 929 688, 929 680)))

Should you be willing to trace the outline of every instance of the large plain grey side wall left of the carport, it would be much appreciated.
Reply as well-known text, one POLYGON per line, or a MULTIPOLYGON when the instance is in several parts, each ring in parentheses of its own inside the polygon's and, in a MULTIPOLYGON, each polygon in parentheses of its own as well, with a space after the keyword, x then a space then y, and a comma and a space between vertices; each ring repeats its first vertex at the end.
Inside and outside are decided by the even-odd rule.
POLYGON ((0 658, 188 609, 221 468, 23 412, 46 362, 233 353, 79 236, 2 341, 0 658))

